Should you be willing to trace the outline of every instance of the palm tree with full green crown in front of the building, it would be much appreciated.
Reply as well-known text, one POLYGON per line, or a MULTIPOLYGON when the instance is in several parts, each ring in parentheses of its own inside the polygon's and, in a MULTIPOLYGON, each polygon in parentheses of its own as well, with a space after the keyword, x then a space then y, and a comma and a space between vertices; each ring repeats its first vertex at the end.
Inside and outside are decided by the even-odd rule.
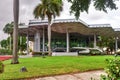
POLYGON ((42 20, 48 18, 48 53, 51 55, 51 21, 52 17, 60 16, 62 11, 62 0, 41 0, 41 3, 34 9, 35 18, 41 18, 42 20))

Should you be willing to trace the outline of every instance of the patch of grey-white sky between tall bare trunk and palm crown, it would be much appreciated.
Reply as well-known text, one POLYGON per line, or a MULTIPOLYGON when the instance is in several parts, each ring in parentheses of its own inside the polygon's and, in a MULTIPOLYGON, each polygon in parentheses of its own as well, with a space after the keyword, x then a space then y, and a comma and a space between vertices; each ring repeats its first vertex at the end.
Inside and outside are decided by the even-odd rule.
POLYGON ((20 22, 28 24, 30 19, 34 19, 33 10, 40 3, 40 0, 20 0, 20 22))

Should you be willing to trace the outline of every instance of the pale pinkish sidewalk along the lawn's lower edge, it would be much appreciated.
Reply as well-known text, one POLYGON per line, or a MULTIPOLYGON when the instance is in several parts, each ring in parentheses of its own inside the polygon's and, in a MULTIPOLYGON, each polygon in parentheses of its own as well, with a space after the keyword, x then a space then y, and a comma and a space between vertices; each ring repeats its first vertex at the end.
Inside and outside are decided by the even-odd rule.
POLYGON ((76 74, 66 74, 66 75, 58 75, 58 76, 50 76, 50 77, 42 77, 31 80, 100 80, 100 75, 106 75, 103 70, 89 71, 83 73, 76 74))

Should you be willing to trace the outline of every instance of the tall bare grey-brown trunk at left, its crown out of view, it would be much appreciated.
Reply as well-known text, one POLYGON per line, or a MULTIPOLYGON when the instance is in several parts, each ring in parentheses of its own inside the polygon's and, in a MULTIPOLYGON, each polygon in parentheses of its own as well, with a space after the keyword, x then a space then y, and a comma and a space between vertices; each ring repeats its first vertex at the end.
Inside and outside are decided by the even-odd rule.
POLYGON ((14 30, 13 30, 13 59, 12 64, 18 64, 18 20, 19 20, 19 0, 13 1, 14 30))

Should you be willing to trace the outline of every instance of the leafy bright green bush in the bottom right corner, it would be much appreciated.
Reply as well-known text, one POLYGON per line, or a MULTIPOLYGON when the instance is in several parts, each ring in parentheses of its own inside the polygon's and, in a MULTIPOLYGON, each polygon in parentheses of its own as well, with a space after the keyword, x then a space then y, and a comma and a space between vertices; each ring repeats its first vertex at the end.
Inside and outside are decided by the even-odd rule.
POLYGON ((115 59, 107 59, 107 67, 105 71, 107 76, 102 75, 101 80, 120 80, 120 60, 115 59))

